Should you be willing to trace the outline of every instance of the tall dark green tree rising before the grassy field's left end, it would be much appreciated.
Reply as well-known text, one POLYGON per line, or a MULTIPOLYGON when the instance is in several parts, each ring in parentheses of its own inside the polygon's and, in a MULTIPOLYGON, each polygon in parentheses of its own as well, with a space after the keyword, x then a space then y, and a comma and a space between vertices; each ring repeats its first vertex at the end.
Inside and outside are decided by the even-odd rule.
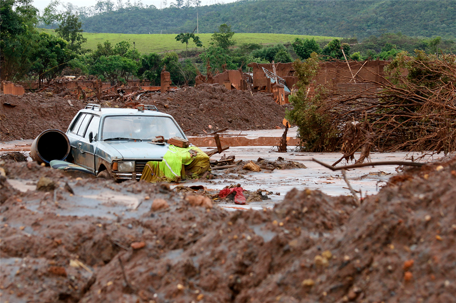
POLYGON ((79 21, 77 15, 73 15, 70 12, 65 12, 62 16, 62 22, 59 28, 56 28, 55 32, 57 35, 64 40, 68 41, 68 48, 77 53, 84 53, 82 44, 87 41, 83 37, 81 29, 82 22, 79 21))

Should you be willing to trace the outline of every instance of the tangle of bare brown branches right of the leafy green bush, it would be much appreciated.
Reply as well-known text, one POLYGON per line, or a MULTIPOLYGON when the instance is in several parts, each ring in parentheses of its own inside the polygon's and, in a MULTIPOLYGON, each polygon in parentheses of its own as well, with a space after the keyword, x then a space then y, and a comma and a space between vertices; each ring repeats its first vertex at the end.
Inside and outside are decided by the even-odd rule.
POLYGON ((384 151, 455 151, 456 57, 403 53, 388 72, 386 78, 377 74, 381 82, 357 78, 349 90, 335 90, 318 111, 339 130, 364 121, 367 136, 359 146, 371 141, 384 151))

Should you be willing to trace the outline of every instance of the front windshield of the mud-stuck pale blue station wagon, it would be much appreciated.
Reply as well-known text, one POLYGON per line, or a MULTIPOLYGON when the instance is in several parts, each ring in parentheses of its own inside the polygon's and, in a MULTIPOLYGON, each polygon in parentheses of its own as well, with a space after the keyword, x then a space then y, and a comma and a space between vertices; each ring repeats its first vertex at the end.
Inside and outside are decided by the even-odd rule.
POLYGON ((108 116, 104 119, 102 140, 151 140, 163 136, 184 137, 169 117, 108 116))

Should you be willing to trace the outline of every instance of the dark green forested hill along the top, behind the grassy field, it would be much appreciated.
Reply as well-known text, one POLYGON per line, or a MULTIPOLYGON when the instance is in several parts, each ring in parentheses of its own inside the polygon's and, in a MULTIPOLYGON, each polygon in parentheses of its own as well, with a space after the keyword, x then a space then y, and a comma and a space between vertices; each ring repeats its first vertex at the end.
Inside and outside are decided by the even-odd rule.
MULTIPOLYGON (((199 32, 226 23, 235 32, 365 38, 384 32, 456 37, 456 1, 447 0, 244 0, 198 8, 199 32)), ((197 25, 197 8, 163 10, 130 6, 84 18, 86 32, 180 33, 197 25)))

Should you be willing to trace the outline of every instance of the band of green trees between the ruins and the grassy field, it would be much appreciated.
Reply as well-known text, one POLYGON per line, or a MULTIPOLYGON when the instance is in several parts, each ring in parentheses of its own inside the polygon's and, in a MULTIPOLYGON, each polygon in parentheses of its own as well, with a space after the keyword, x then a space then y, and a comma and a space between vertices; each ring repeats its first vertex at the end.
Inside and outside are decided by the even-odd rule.
POLYGON ((43 15, 31 6, 30 0, 0 0, 2 39, 0 63, 2 80, 39 80, 62 74, 94 75, 104 81, 125 83, 128 79, 149 80, 160 85, 163 69, 171 73, 173 85, 192 85, 198 73, 206 74, 208 67, 214 74, 225 69, 247 70, 247 64, 289 63, 296 59, 307 60, 312 53, 319 60, 389 60, 402 51, 415 49, 428 54, 456 53, 452 40, 439 36, 412 38, 402 33, 384 33, 371 36, 362 42, 356 38, 334 39, 319 44, 314 39, 296 38, 291 44, 262 46, 236 42, 231 25, 215 28, 209 45, 203 45, 198 34, 182 31, 175 36, 176 44, 185 43, 183 54, 140 54, 133 42, 121 41, 112 45, 109 41, 98 44, 97 49, 84 49, 82 21, 77 14, 53 10, 48 6, 43 15), (49 35, 36 29, 40 22, 57 22, 57 35, 49 35), (188 51, 189 42, 196 48, 188 51))

